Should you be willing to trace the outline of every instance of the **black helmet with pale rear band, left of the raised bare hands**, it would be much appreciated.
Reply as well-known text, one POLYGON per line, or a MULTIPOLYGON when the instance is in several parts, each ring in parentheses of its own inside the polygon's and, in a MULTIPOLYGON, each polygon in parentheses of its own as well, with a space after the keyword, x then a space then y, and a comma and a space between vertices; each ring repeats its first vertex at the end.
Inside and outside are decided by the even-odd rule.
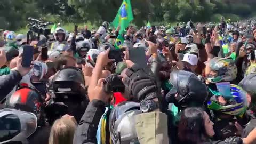
POLYGON ((55 102, 84 100, 86 88, 83 72, 76 67, 61 69, 52 79, 52 88, 55 102))

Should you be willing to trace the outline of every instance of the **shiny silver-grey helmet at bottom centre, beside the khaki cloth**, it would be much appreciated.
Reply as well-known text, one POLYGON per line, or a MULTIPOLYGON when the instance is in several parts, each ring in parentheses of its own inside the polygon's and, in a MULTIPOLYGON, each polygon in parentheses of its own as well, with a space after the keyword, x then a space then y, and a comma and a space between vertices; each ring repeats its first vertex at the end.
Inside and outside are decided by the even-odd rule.
POLYGON ((140 103, 124 101, 111 110, 109 131, 113 143, 138 142, 135 115, 141 114, 140 103))

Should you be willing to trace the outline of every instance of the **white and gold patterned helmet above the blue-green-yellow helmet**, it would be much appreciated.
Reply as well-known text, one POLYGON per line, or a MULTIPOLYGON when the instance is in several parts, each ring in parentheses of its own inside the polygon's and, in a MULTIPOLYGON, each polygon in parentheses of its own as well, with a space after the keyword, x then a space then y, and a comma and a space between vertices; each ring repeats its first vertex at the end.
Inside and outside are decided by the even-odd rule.
POLYGON ((211 59, 207 66, 216 73, 216 75, 207 76, 207 81, 210 83, 218 83, 220 81, 231 82, 236 79, 237 67, 234 60, 211 59))

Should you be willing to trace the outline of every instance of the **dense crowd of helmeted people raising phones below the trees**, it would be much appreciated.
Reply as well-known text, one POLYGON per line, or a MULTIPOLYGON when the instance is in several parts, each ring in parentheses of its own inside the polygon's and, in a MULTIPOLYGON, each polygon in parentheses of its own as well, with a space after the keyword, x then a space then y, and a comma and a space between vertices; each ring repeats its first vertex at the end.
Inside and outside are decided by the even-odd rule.
POLYGON ((5 30, 0 143, 256 143, 255 26, 5 30))

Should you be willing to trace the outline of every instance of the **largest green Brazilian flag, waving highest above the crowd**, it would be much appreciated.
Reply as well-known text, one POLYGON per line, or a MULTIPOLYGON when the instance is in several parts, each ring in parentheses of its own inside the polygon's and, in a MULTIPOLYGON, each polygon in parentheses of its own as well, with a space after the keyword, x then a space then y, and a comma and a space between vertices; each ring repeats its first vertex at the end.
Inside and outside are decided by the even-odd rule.
POLYGON ((112 22, 112 25, 117 28, 120 26, 119 34, 123 34, 124 30, 129 26, 129 23, 133 20, 131 0, 123 0, 116 18, 112 22))

